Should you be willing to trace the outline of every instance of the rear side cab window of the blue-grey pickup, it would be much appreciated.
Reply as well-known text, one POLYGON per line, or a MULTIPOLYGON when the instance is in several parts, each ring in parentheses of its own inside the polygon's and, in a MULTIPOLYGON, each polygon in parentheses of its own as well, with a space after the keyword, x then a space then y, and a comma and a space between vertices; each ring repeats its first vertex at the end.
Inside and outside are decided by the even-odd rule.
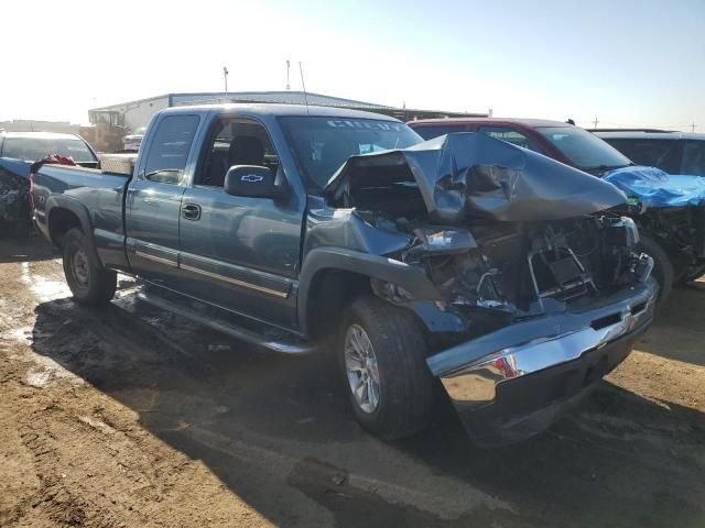
POLYGON ((199 122, 193 114, 167 116, 159 122, 144 162, 145 179, 173 185, 183 182, 199 122))

